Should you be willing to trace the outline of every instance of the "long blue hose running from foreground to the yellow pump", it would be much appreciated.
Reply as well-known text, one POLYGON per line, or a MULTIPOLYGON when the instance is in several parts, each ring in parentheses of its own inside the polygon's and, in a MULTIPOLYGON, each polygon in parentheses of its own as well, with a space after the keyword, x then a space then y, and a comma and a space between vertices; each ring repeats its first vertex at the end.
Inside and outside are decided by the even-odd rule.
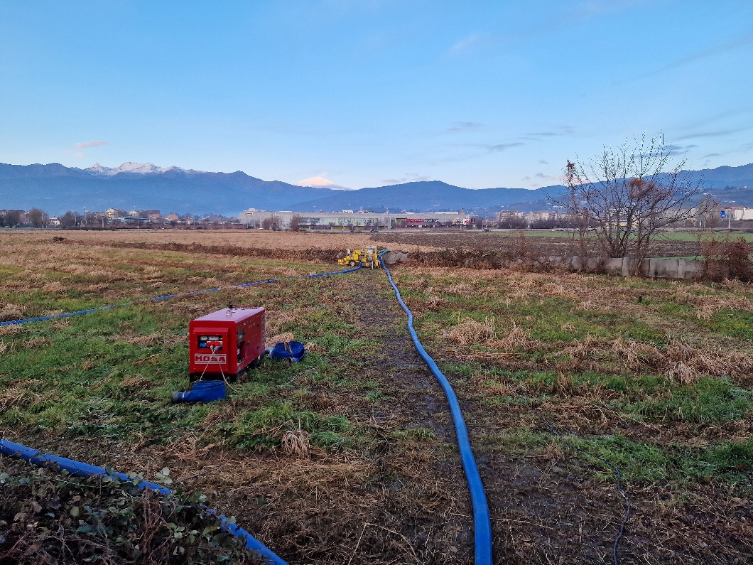
POLYGON ((395 289, 395 296, 398 298, 398 302, 408 315, 408 331, 410 331, 413 344, 416 346, 419 355, 426 362, 426 365, 428 365, 428 368, 434 373, 434 377, 437 377, 442 389, 444 389, 444 394, 447 396, 447 402, 450 404, 450 413, 453 415, 455 432, 458 437, 460 460, 465 471, 465 478, 468 481, 468 490, 471 491, 471 503, 473 504, 474 514, 475 563, 476 565, 492 565, 492 526, 489 519, 489 505, 486 503, 486 492, 483 490, 481 475, 479 475, 476 460, 473 457, 471 441, 468 439, 468 429, 465 426, 465 420, 463 420, 458 399, 452 385, 450 385, 450 381, 442 374, 442 371, 437 367, 437 363, 434 362, 434 359, 431 359, 431 356, 426 353, 426 350, 421 345, 418 334, 413 329, 413 313, 405 305, 400 291, 395 285, 395 281, 392 280, 392 274, 389 272, 387 265, 383 266, 392 289, 395 289))

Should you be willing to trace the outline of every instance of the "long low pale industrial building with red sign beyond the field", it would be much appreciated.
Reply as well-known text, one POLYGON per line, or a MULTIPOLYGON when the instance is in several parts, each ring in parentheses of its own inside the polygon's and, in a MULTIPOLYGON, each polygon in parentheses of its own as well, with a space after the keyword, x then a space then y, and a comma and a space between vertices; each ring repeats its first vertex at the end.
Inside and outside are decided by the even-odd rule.
POLYGON ((396 226, 431 227, 444 224, 472 223, 473 218, 460 212, 269 212, 250 208, 239 214, 239 220, 249 228, 272 227, 280 230, 290 228, 291 218, 297 216, 301 228, 395 228, 396 226), (266 220, 266 222, 265 222, 266 220), (266 225, 265 225, 266 224, 266 225))

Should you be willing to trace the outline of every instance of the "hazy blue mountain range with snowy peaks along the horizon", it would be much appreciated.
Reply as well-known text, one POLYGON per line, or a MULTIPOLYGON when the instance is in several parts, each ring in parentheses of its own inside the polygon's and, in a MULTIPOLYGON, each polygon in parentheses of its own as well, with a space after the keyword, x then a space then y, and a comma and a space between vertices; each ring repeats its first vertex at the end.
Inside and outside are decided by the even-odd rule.
MULTIPOLYGON (((701 180, 721 203, 753 207, 753 163, 688 171, 701 180)), ((547 195, 562 194, 554 185, 525 188, 471 190, 441 181, 407 182, 378 188, 345 191, 340 187, 290 185, 235 173, 208 173, 152 163, 123 163, 107 167, 97 163, 88 169, 48 165, 0 163, 0 209, 38 207, 51 214, 66 210, 83 212, 108 208, 159 209, 163 213, 218 213, 238 215, 243 209, 292 210, 294 212, 366 209, 380 212, 408 210, 436 212, 459 210, 496 212, 545 209, 547 195)))

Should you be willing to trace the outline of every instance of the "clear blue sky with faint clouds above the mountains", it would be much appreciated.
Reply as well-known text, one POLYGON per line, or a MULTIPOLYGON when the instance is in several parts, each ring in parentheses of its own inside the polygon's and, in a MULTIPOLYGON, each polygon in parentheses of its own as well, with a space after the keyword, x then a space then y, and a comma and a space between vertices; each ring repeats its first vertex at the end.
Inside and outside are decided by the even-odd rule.
POLYGON ((4 163, 534 188, 643 132, 751 163, 751 101, 750 0, 0 0, 4 163))

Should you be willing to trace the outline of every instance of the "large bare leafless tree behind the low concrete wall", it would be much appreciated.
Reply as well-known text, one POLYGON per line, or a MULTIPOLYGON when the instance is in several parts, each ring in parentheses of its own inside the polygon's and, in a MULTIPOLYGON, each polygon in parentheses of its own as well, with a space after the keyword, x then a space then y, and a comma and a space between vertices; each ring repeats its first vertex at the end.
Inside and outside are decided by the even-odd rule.
POLYGON ((596 228, 602 256, 636 258, 634 274, 639 274, 648 245, 658 231, 669 224, 687 221, 703 210, 700 182, 693 182, 683 170, 685 159, 672 163, 671 145, 663 136, 636 139, 602 154, 585 166, 568 161, 565 183, 568 188, 559 200, 551 199, 578 221, 581 253, 585 230, 596 228))

